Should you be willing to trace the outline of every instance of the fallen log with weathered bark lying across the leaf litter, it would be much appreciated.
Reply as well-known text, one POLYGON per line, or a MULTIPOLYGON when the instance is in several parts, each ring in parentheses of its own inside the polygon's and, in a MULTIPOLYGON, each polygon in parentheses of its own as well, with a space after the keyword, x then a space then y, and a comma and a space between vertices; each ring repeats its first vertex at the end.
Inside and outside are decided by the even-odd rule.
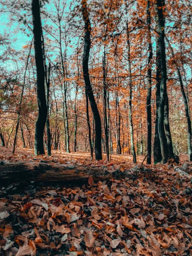
POLYGON ((0 186, 30 181, 58 181, 73 182, 87 181, 89 176, 93 180, 104 180, 122 175, 119 170, 108 172, 101 167, 78 166, 67 164, 52 164, 41 162, 3 162, 0 164, 0 186))

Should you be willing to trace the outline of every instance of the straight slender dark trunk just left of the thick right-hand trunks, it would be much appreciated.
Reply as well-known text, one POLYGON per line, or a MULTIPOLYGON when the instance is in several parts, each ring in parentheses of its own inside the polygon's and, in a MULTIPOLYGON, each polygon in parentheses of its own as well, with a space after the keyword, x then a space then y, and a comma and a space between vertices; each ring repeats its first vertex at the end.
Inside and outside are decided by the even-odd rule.
POLYGON ((147 164, 151 164, 151 61, 153 57, 151 44, 151 13, 150 0, 147 1, 147 26, 148 26, 148 70, 147 70, 147 164))

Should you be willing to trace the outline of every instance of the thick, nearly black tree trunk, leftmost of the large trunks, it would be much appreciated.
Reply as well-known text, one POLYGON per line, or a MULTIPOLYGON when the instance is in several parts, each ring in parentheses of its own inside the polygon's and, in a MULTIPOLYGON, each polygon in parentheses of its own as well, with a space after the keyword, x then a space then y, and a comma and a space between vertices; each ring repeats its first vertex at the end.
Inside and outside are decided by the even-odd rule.
POLYGON ((35 155, 45 154, 44 128, 47 120, 47 104, 44 85, 44 60, 41 44, 41 17, 39 0, 32 0, 32 23, 34 35, 35 64, 37 70, 38 119, 35 124, 35 155))

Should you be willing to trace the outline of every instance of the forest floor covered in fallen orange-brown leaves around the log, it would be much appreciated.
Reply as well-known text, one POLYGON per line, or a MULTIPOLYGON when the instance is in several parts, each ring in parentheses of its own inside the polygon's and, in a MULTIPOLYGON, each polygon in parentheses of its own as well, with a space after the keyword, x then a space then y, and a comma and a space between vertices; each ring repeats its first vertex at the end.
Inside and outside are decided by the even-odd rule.
POLYGON ((192 163, 141 166, 129 155, 0 147, 0 160, 100 166, 127 177, 84 184, 29 183, 0 188, 0 256, 192 255, 192 163))

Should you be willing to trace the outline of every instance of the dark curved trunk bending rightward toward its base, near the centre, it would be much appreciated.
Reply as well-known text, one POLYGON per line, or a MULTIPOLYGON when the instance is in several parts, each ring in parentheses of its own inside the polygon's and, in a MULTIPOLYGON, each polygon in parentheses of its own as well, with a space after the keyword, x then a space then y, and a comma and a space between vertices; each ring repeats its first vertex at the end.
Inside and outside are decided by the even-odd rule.
POLYGON ((89 97, 90 106, 93 112, 93 117, 95 120, 95 157, 96 160, 102 160, 102 129, 101 129, 101 118, 99 115, 99 111, 96 105, 96 101, 93 95, 93 90, 90 83, 90 77, 89 77, 89 68, 88 68, 88 61, 89 61, 89 54, 90 54, 90 31, 91 31, 91 25, 89 20, 89 15, 87 11, 87 0, 81 1, 82 6, 82 15, 84 19, 84 54, 83 54, 83 77, 84 77, 84 83, 85 83, 85 90, 89 97))

